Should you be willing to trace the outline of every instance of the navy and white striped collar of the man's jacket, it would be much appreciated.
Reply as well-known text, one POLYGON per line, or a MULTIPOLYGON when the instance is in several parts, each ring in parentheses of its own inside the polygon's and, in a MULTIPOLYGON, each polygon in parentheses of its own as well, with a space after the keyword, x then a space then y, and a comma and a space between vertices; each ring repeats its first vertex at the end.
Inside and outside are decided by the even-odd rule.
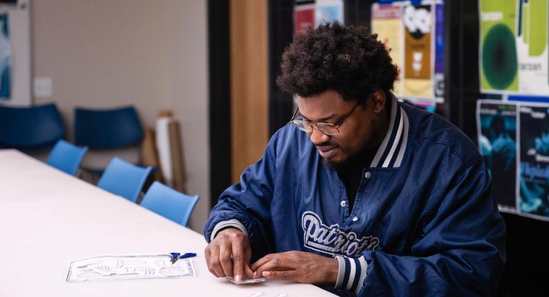
POLYGON ((400 167, 408 143, 408 115, 391 94, 391 118, 382 144, 377 149, 370 167, 400 167))

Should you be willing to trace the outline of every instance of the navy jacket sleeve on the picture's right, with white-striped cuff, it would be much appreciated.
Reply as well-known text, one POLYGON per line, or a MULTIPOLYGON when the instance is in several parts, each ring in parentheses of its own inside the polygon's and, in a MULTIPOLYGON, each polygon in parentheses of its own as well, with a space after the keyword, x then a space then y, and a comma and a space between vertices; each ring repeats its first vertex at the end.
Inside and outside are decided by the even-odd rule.
POLYGON ((410 255, 365 251, 345 261, 354 269, 340 262, 342 287, 359 296, 493 296, 505 265, 505 223, 482 160, 458 172, 445 193, 425 207, 432 214, 425 214, 410 255))

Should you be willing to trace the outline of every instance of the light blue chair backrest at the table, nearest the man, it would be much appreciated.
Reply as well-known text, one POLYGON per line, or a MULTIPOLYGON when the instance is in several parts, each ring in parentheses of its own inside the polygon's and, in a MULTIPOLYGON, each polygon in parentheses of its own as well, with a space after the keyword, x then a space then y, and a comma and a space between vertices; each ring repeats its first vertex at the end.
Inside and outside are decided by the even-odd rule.
POLYGON ((182 226, 187 223, 200 196, 188 196, 159 182, 154 182, 143 197, 141 206, 182 226))

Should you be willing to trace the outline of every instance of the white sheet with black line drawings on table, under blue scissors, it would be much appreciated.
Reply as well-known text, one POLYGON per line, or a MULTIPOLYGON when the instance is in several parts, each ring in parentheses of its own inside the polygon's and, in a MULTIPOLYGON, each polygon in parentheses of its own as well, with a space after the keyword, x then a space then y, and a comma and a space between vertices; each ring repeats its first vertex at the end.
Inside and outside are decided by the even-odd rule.
POLYGON ((192 260, 172 264, 172 255, 105 255, 71 261, 67 282, 135 280, 144 278, 196 278, 192 260))

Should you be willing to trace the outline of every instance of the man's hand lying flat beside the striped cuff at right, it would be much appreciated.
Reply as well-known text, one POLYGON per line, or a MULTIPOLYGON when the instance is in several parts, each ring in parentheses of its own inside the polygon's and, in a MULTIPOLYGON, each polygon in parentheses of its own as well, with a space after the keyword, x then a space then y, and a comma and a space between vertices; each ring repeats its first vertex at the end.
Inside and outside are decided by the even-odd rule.
POLYGON ((313 253, 290 251, 269 254, 252 265, 254 278, 276 278, 313 285, 336 285, 338 260, 313 253))

